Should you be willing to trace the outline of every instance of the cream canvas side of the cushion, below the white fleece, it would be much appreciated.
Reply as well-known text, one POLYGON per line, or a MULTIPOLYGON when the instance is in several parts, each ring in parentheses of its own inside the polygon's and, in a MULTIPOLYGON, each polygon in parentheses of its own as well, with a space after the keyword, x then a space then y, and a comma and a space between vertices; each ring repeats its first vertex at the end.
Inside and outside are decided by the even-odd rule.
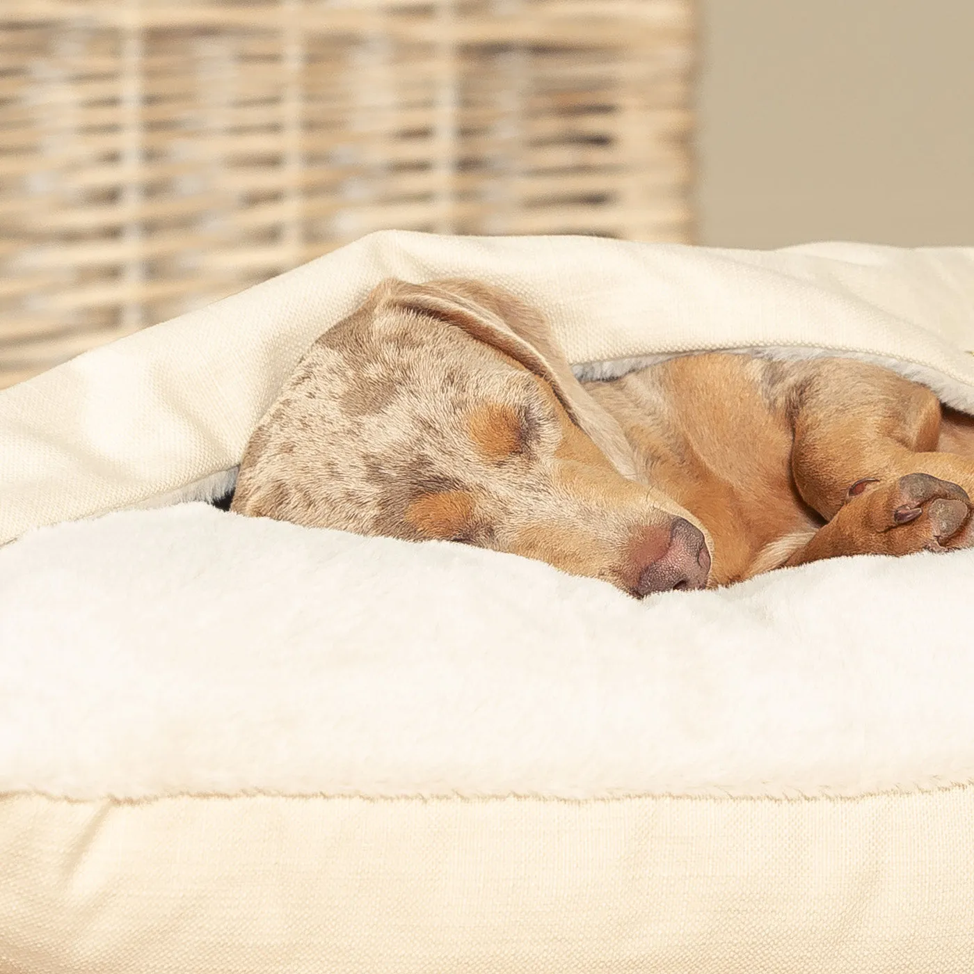
POLYGON ((10 974, 966 974, 970 789, 0 802, 10 974), (15 921, 16 920, 16 921, 15 921))

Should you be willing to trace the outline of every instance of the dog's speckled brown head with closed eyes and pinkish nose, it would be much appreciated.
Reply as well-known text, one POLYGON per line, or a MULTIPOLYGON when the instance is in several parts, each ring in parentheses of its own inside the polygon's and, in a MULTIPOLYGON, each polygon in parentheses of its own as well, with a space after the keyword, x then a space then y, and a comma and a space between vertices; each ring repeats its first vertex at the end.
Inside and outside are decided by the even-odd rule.
POLYGON ((508 551, 637 596, 710 568, 541 315, 473 281, 385 281, 321 335, 254 432, 232 509, 508 551))

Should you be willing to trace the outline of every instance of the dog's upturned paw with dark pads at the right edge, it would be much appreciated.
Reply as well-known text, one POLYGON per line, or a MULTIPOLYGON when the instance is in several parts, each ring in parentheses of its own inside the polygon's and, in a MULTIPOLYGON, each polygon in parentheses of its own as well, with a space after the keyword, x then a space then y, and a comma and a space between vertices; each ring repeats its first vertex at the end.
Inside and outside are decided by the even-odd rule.
POLYGON ((974 544, 972 506, 967 492, 929 473, 898 480, 860 480, 849 488, 843 513, 858 514, 872 536, 865 550, 877 554, 948 551, 974 544))

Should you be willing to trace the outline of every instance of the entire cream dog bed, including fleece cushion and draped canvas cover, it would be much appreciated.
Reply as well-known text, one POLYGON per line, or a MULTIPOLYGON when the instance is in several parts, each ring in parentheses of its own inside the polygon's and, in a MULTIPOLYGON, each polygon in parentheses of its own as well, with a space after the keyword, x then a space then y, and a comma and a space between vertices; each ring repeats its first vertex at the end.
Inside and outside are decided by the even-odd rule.
POLYGON ((399 233, 0 393, 0 969, 969 971, 974 552, 636 602, 201 503, 320 331, 458 275, 581 374, 974 411, 974 250, 399 233))

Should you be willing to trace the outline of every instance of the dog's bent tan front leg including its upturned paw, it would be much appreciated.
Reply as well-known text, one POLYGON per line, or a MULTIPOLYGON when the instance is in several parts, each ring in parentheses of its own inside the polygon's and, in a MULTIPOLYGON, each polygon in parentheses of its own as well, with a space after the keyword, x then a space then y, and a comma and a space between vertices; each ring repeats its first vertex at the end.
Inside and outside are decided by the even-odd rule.
POLYGON ((809 363, 792 424, 795 484, 828 523, 786 564, 974 543, 974 460, 937 451, 925 387, 849 359, 809 363))

